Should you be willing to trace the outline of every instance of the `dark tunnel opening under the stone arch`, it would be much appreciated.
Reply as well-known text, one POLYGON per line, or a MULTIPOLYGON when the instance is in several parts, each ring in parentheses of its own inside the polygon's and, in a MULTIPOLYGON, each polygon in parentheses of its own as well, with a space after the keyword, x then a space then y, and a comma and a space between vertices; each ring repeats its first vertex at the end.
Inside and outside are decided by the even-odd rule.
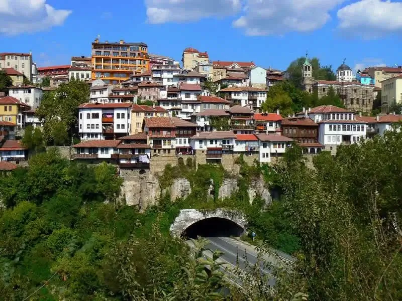
POLYGON ((226 218, 211 217, 197 221, 187 227, 181 234, 184 238, 240 236, 244 229, 226 218))

